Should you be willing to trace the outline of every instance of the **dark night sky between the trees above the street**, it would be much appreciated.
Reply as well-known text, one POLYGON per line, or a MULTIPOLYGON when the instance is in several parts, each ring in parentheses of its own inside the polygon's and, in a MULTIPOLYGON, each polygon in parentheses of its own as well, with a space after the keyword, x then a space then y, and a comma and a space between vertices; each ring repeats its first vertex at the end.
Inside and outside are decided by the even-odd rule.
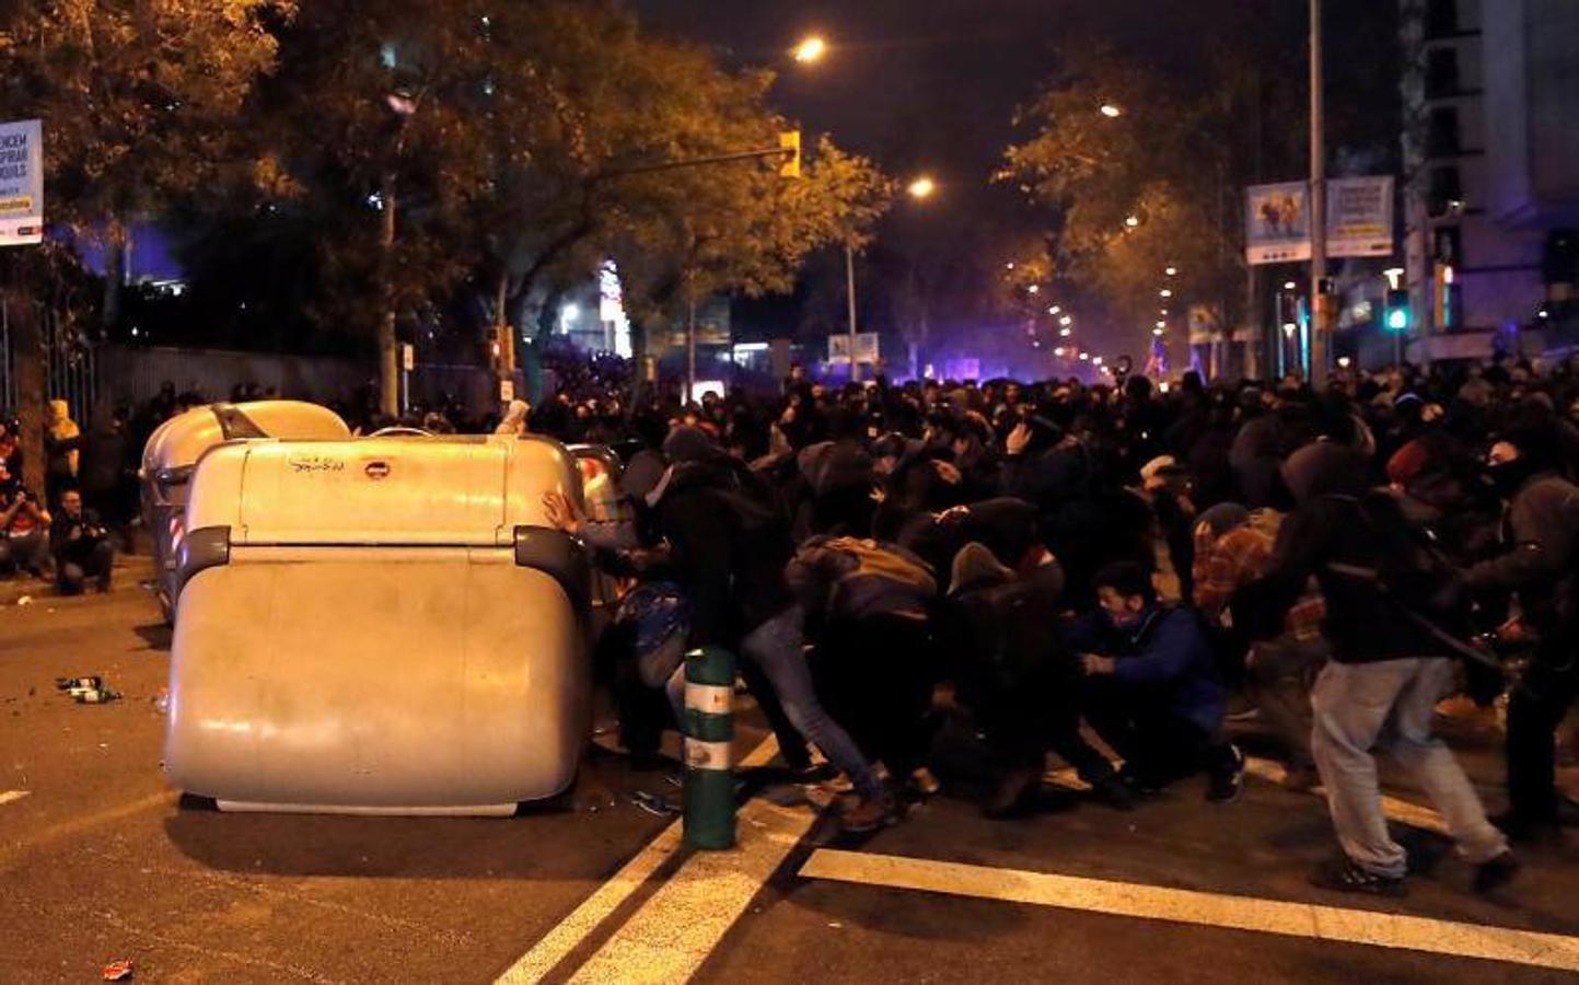
MULTIPOLYGON (((988 178, 1004 147, 1023 136, 1015 107, 1056 69, 1058 47, 1107 44, 1162 68, 1187 92, 1202 85, 1198 68, 1222 33, 1298 52, 1306 16, 1296 0, 630 2, 649 30, 709 44, 726 63, 777 69, 774 103, 807 131, 831 133, 895 177, 933 174, 938 199, 902 205, 880 229, 880 248, 979 270, 987 254, 996 262, 1017 235, 1045 224, 1034 205, 988 178), (812 68, 786 54, 807 33, 834 46, 812 68)), ((1339 109, 1345 68, 1377 57, 1367 35, 1393 30, 1393 6, 1328 0, 1328 99, 1339 109)), ((1306 71, 1298 58, 1290 69, 1306 71)), ((820 276, 827 279, 813 264, 808 279, 820 276)), ((970 328, 985 317, 979 295, 981 275, 955 278, 952 294, 933 298, 936 319, 970 328)))

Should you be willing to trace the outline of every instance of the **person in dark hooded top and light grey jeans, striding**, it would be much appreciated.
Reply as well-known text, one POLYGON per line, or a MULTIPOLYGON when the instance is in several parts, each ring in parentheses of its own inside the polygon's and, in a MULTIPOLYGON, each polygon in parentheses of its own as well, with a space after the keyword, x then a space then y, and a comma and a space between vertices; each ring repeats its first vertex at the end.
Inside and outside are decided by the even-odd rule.
POLYGON ((1367 461, 1314 442, 1282 466, 1296 508, 1277 534, 1268 575, 1254 586, 1262 622, 1276 620, 1314 576, 1326 600, 1331 655, 1312 690, 1315 758, 1342 856, 1311 882, 1342 892, 1404 895, 1408 856, 1388 833, 1374 750, 1382 747, 1424 788, 1491 892, 1517 873, 1508 840, 1446 745, 1432 713, 1453 685, 1451 633, 1432 598, 1442 571, 1393 497, 1369 488, 1367 461))

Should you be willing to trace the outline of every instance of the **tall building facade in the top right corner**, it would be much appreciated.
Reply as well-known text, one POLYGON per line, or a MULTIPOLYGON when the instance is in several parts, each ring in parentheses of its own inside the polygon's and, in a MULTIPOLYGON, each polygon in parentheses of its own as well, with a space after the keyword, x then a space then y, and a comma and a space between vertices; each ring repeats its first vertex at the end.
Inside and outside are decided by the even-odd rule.
POLYGON ((1401 5, 1410 352, 1558 347, 1579 229, 1579 3, 1401 5))

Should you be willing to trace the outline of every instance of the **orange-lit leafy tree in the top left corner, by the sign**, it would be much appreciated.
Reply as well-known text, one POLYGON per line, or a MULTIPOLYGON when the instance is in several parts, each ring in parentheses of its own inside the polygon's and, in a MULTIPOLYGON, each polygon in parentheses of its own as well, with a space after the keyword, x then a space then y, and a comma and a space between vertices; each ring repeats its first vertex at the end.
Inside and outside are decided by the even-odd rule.
MULTIPOLYGON (((272 63, 270 24, 292 0, 13 0, 0 21, 0 106, 44 123, 51 235, 103 237, 103 319, 118 314, 120 254, 131 219, 210 188, 253 82, 272 63)), ((30 249, 30 248, 19 248, 30 249)), ((6 262, 13 306, 58 292, 54 253, 6 262)), ((28 309, 28 316, 32 311, 28 309)), ((36 344, 19 346, 17 377, 43 387, 36 344)), ((24 409, 43 393, 22 396, 24 409)), ((36 440, 41 420, 27 421, 36 440)), ((30 459, 38 461, 36 448, 30 459)))

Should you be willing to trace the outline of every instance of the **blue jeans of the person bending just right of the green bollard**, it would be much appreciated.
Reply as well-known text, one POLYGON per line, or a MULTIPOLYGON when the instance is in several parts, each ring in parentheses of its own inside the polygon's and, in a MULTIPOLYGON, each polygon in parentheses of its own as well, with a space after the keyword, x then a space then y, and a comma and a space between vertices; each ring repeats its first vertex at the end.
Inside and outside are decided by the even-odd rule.
MULTIPOLYGON (((741 641, 741 655, 756 663, 772 684, 778 702, 790 717, 790 723, 805 736, 807 742, 816 745, 827 756, 827 761, 843 770, 862 797, 883 794, 883 781, 876 770, 867 762, 856 740, 850 737, 834 718, 823 709, 812 688, 812 668, 807 666, 805 654, 801 652, 802 624, 805 614, 801 606, 790 606, 763 625, 745 635, 741 641)), ((676 709, 681 721, 685 720, 685 669, 681 668, 669 679, 669 702, 676 709)))

